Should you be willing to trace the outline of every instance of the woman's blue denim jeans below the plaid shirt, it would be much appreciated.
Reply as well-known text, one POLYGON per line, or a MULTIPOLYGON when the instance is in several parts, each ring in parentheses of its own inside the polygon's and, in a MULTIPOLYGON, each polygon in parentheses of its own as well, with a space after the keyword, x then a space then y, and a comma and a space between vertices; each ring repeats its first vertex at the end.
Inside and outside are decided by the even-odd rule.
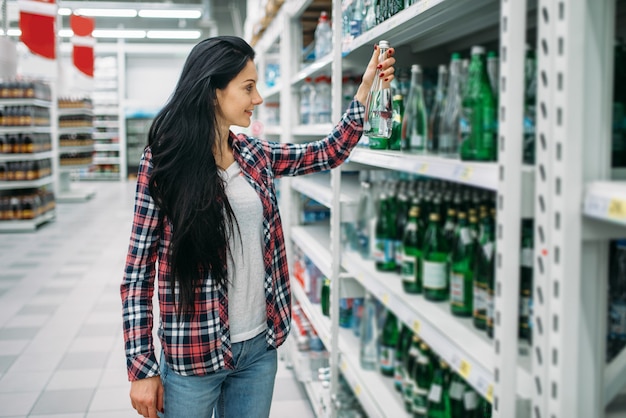
POLYGON ((165 414, 162 418, 267 418, 270 414, 277 355, 265 333, 232 345, 234 370, 181 376, 161 356, 165 414))

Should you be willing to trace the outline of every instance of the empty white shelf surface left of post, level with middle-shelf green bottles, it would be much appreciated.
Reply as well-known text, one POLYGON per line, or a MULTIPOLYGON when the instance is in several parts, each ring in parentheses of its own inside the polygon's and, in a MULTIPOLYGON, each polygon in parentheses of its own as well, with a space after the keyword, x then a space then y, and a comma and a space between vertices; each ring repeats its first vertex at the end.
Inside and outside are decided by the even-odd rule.
POLYGON ((294 226, 291 239, 313 261, 322 274, 332 277, 330 268, 330 225, 327 222, 294 226))

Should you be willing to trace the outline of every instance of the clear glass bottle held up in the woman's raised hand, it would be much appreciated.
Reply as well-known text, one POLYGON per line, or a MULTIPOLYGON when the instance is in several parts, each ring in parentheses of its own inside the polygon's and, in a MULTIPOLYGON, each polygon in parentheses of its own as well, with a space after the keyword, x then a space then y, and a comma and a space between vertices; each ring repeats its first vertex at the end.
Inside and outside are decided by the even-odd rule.
MULTIPOLYGON (((378 49, 378 62, 382 62, 387 58, 389 42, 380 41, 378 49)), ((391 96, 390 82, 381 78, 380 70, 376 70, 372 88, 367 95, 365 122, 363 124, 363 134, 370 138, 370 148, 387 148, 393 121, 391 96), (372 139, 380 139, 380 141, 372 141, 372 139)))

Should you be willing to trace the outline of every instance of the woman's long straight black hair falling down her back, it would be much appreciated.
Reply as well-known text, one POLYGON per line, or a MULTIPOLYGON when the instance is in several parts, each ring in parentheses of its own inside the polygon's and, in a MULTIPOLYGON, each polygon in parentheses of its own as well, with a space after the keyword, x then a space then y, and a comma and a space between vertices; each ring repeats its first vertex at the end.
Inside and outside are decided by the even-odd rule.
POLYGON ((225 286, 228 280, 234 214, 213 156, 218 148, 216 90, 226 88, 253 59, 252 47, 238 37, 199 42, 150 127, 150 193, 172 223, 170 289, 175 295, 178 282, 179 314, 195 312, 195 294, 204 276, 210 274, 212 286, 225 286))

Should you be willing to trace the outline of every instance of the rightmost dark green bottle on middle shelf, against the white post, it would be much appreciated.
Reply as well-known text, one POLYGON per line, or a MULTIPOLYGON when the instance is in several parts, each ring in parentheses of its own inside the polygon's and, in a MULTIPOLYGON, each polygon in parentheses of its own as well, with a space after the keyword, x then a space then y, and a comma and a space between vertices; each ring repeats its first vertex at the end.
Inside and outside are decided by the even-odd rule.
POLYGON ((487 328, 487 283, 494 269, 493 228, 487 214, 481 217, 481 235, 475 251, 474 264, 474 326, 478 329, 487 328))

